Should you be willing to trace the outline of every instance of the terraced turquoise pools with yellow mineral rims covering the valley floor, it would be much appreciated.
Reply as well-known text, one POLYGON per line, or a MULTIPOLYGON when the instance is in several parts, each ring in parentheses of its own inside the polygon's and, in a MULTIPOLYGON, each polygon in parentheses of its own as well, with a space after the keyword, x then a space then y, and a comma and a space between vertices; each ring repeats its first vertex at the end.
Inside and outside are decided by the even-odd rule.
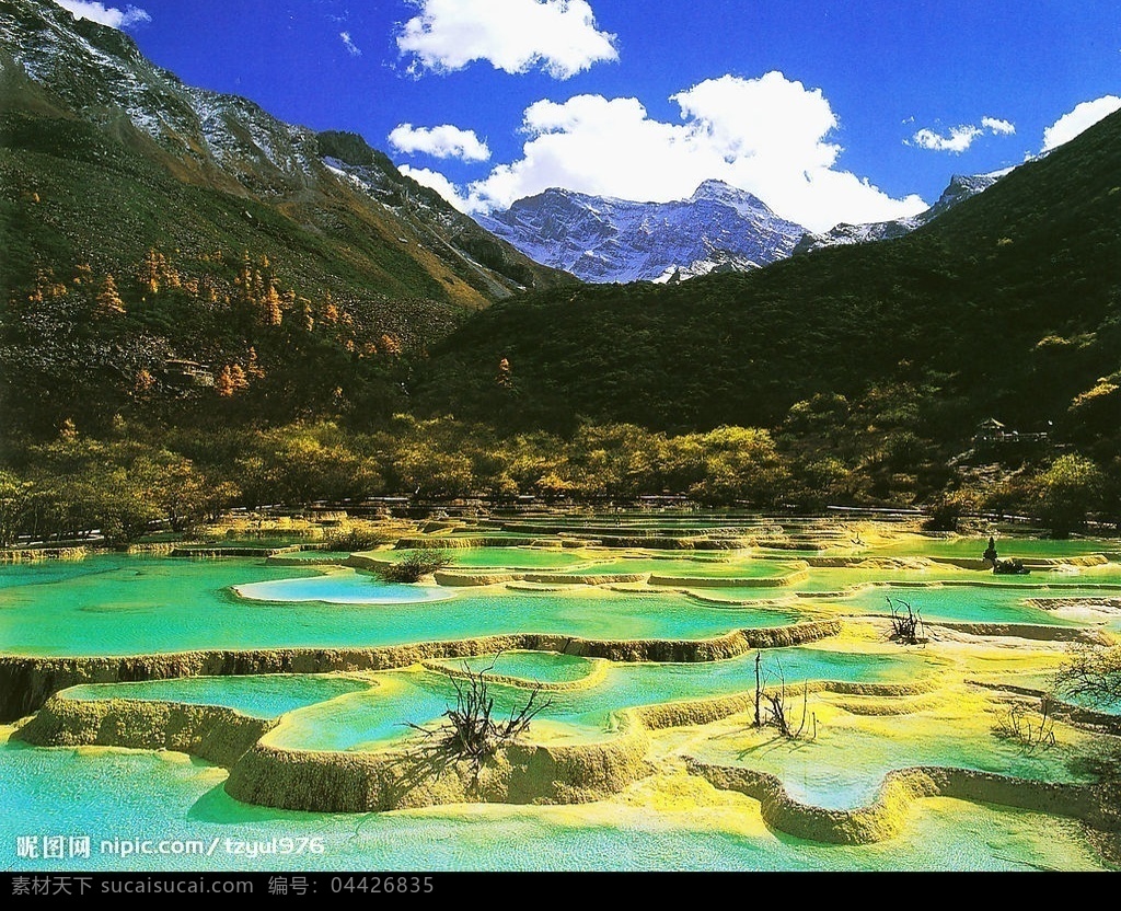
MULTIPOLYGON (((776 828, 758 797, 714 786, 725 773, 710 780, 695 771, 700 764, 732 776, 771 776, 807 819, 822 810, 864 812, 892 774, 919 767, 1020 782, 1007 786, 1022 794, 1035 793, 1035 785, 1075 793, 1094 781, 1087 760, 1095 738, 1106 736, 1100 728, 1044 719, 1054 744, 1027 748, 1018 725, 1038 718, 1031 693, 1046 690, 1065 643, 1121 631, 1121 563, 1110 558, 1102 565, 1036 567, 1023 577, 997 578, 929 562, 973 559, 986 540, 909 535, 864 545, 835 523, 821 526, 821 546, 769 556, 760 547, 668 554, 633 545, 648 533, 713 530, 777 539, 775 526, 729 516, 628 526, 613 514, 491 525, 479 534, 532 534, 553 537, 556 546, 456 549, 448 577, 455 585, 389 585, 342 565, 349 554, 322 551, 271 562, 103 554, 4 565, 0 664, 25 656, 33 664, 20 673, 34 674, 35 661, 71 662, 50 665, 50 673, 76 668, 87 682, 65 689, 59 705, 102 706, 110 718, 118 717, 114 706, 138 701, 157 709, 217 706, 276 724, 261 740, 269 749, 362 756, 399 749, 416 736, 414 725, 439 723, 470 672, 490 678, 498 717, 541 688, 545 707, 530 743, 576 751, 556 762, 572 764, 587 748, 611 756, 612 745, 626 740, 627 749, 641 744, 647 764, 573 806, 297 812, 239 803, 224 791, 229 771, 196 756, 33 747, 18 735, 8 740, 15 730, 8 727, 0 728, 8 809, 0 831, 7 844, 28 827, 50 826, 63 834, 138 829, 166 837, 314 831, 330 845, 316 858, 325 869, 369 867, 371 858, 383 868, 425 869, 1113 868, 1076 819, 999 801, 908 799, 893 810, 890 843, 795 837, 776 828), (559 546, 560 534, 611 530, 620 539, 629 533, 626 546, 559 546), (813 564, 823 553, 890 559, 813 564), (324 560, 336 562, 311 565, 324 560), (474 571, 483 578, 473 579, 474 571), (620 574, 639 579, 609 581, 620 574), (738 579, 744 585, 734 585, 738 579), (694 587, 696 580, 708 581, 694 587), (890 608, 905 602, 928 625, 921 644, 889 638, 890 608), (1029 638, 1016 637, 1029 627, 1029 638), (550 636, 552 644, 485 647, 487 637, 526 635, 550 636), (237 670, 248 650, 267 672, 237 670), (178 655, 178 664, 160 665, 170 669, 160 671, 169 679, 121 675, 142 674, 155 666, 150 656, 168 653, 178 655), (683 653, 695 660, 674 657, 683 653), (114 663, 120 656, 136 661, 114 663), (303 662, 299 673, 294 662, 303 662), (303 672, 316 664, 323 672, 303 672), (94 682, 113 674, 117 682, 94 682), (752 697, 765 717, 768 706, 781 707, 797 734, 757 727, 752 697), (479 819, 487 825, 475 825, 479 819)), ((788 526, 788 541, 808 540, 813 528, 788 526)), ((998 546, 1002 556, 1025 559, 1121 552, 1108 540, 998 540, 998 546)), ((179 868, 228 863, 191 858, 179 868)), ((286 864, 275 856, 253 863, 262 869, 286 864)), ((48 868, 34 858, 8 858, 7 866, 48 868)), ((300 867, 306 858, 293 858, 291 868, 300 867)), ((119 867, 112 857, 93 856, 83 868, 119 867)))

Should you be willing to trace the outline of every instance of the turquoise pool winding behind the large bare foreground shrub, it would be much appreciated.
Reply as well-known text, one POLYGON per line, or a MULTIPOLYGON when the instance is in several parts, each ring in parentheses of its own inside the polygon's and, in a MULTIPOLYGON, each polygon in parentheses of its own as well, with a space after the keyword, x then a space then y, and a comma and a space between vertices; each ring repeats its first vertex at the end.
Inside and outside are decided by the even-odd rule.
MULTIPOLYGON (((765 683, 785 680, 905 682, 934 673, 942 665, 917 653, 855 655, 791 647, 769 651, 761 664, 765 683)), ((754 655, 696 664, 613 664, 602 681, 589 688, 547 693, 549 706, 538 718, 571 726, 584 735, 602 734, 620 709, 753 691, 754 655)), ((454 684, 432 671, 390 671, 383 685, 294 712, 270 742, 295 749, 363 749, 409 734, 408 723, 427 724, 455 706, 454 684)), ((527 690, 490 685, 498 716, 526 702, 527 690)))

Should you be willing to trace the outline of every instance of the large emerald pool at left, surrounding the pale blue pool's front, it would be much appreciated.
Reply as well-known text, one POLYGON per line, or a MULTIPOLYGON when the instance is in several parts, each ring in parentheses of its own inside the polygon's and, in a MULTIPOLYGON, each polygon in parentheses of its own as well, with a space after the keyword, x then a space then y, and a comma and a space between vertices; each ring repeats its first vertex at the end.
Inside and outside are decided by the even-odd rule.
MULTIPOLYGON (((29 655, 377 646, 508 633, 697 639, 800 618, 796 610, 705 606, 671 591, 465 588, 439 602, 262 601, 239 597, 232 587, 297 579, 319 590, 333 585, 332 577, 237 558, 104 555, 3 567, 0 579, 0 652, 29 655)), ((345 585, 358 586, 356 574, 345 585)))

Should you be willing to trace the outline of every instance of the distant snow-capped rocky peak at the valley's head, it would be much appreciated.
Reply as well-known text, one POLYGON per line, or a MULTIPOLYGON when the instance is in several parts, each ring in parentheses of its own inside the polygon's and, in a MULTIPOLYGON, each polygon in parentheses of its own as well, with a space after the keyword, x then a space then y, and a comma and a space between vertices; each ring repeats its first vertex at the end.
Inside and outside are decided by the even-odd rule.
POLYGON ((596 283, 745 272, 788 257, 806 232, 722 181, 667 203, 550 188, 476 220, 530 259, 596 283))

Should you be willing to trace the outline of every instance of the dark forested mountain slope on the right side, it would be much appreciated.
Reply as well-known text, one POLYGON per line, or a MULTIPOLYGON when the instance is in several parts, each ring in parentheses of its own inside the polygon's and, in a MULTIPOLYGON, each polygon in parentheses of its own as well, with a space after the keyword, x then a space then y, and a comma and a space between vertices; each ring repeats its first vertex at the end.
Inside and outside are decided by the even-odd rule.
POLYGON ((495 306, 434 349, 421 397, 509 426, 901 427, 941 454, 990 414, 1115 433, 1074 403, 1108 411, 1121 369, 1119 140, 1113 116, 898 240, 495 306))

